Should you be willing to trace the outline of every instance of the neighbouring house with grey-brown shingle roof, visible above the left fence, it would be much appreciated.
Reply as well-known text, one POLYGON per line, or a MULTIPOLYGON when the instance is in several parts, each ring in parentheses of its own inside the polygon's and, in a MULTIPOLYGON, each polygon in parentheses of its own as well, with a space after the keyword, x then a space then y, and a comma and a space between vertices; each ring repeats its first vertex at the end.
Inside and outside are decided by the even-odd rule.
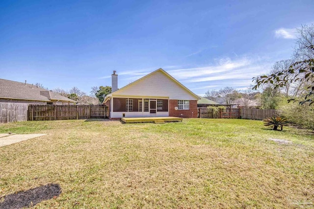
POLYGON ((0 79, 0 102, 75 104, 76 101, 32 84, 0 79))

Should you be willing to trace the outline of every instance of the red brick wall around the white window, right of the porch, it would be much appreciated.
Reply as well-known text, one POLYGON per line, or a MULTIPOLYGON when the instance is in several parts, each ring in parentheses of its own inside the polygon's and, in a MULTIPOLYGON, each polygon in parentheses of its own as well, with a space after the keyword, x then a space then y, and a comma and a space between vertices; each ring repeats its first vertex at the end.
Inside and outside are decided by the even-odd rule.
POLYGON ((178 100, 169 100, 169 116, 172 117, 197 117, 197 101, 190 100, 189 110, 175 110, 178 107, 178 100))

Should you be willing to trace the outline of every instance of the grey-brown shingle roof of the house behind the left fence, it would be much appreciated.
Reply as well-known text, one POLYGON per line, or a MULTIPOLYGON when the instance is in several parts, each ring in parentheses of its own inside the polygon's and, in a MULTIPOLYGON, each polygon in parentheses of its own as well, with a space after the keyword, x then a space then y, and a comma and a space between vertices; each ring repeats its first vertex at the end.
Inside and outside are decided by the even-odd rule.
POLYGON ((39 88, 32 84, 0 79, 0 98, 23 99, 35 101, 66 101, 76 102, 65 96, 39 88))

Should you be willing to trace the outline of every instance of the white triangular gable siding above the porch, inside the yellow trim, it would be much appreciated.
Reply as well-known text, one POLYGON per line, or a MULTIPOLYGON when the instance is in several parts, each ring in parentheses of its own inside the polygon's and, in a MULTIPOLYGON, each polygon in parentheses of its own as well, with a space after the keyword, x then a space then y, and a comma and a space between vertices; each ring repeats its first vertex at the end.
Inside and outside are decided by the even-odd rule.
MULTIPOLYGON (((178 83, 161 71, 156 71, 147 77, 130 84, 116 92, 118 95, 167 96, 169 99, 197 100, 178 83)), ((113 93, 114 97, 115 93, 113 93)))

